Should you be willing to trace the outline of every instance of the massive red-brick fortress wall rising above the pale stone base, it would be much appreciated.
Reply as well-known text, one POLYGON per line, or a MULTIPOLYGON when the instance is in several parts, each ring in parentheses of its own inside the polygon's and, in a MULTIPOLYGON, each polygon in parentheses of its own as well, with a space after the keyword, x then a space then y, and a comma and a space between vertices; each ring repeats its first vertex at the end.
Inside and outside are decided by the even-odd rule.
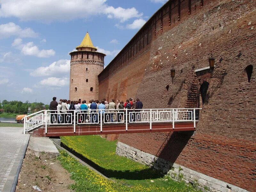
POLYGON ((179 2, 169 1, 158 10, 100 73, 99 98, 138 97, 144 108, 184 108, 188 86, 172 84, 170 69, 198 90, 208 82, 204 104, 200 95, 202 110, 194 134, 121 134, 119 141, 256 191, 256 1, 179 2), (227 73, 222 82, 208 72, 195 73, 209 66, 211 53, 215 71, 227 73), (253 66, 250 83, 248 65, 253 66))

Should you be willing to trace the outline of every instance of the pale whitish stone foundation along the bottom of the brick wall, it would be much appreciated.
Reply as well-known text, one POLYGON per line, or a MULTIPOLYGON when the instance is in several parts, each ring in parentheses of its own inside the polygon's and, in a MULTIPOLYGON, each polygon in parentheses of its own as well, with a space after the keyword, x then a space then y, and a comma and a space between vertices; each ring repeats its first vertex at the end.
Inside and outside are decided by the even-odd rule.
POLYGON ((162 158, 145 153, 121 142, 117 143, 116 154, 119 156, 125 156, 133 161, 152 166, 154 169, 160 170, 164 174, 169 175, 172 179, 185 181, 187 184, 191 183, 202 191, 249 192, 235 185, 231 185, 227 182, 209 177, 192 169, 188 169, 182 165, 168 162, 162 158))

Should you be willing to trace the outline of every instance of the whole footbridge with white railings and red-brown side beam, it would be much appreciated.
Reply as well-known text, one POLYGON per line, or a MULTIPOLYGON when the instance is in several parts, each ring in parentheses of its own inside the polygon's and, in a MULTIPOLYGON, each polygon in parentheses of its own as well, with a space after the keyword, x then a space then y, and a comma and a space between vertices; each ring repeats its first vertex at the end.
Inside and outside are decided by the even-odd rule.
POLYGON ((200 109, 42 110, 24 117, 24 134, 54 137, 195 131, 200 109))

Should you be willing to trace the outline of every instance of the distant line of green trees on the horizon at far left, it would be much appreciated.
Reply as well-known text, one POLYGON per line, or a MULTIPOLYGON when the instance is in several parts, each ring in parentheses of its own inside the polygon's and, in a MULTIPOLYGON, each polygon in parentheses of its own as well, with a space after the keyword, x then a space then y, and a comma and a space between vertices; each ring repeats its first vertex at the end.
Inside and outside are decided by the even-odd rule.
POLYGON ((42 102, 0 101, 0 109, 3 109, 5 113, 27 114, 28 108, 30 108, 31 113, 35 113, 43 109, 49 109, 49 105, 44 105, 42 102))

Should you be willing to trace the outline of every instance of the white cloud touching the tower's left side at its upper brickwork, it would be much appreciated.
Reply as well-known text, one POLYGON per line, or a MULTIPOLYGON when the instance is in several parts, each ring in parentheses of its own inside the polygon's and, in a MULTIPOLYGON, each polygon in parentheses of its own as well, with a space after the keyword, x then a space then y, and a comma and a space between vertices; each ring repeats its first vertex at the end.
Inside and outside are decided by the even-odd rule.
POLYGON ((58 60, 47 67, 39 67, 30 73, 30 76, 58 76, 70 72, 70 60, 58 60))

